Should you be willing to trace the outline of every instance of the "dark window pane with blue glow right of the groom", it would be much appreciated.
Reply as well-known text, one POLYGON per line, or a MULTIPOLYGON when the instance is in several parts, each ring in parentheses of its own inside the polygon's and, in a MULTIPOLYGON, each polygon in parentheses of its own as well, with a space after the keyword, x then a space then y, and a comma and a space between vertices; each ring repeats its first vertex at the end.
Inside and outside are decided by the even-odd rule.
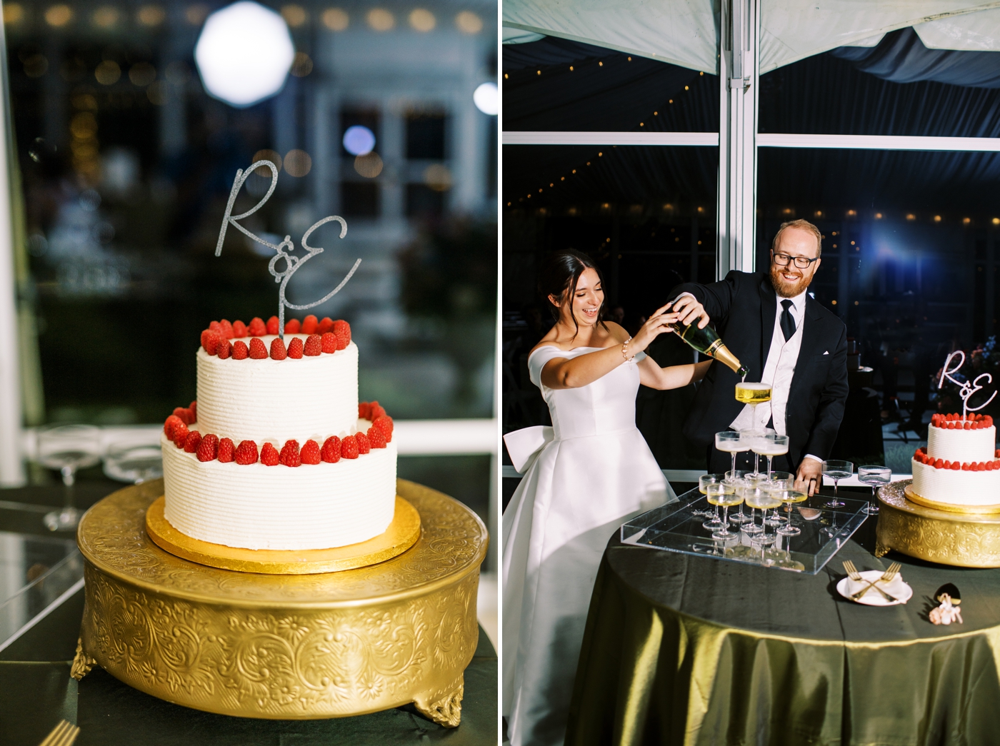
POLYGON ((757 266, 782 222, 815 223, 824 240, 810 292, 872 369, 852 379, 841 456, 878 458, 884 419, 886 463, 906 473, 937 407, 935 372, 951 350, 996 334, 998 173, 996 153, 760 150, 757 266))

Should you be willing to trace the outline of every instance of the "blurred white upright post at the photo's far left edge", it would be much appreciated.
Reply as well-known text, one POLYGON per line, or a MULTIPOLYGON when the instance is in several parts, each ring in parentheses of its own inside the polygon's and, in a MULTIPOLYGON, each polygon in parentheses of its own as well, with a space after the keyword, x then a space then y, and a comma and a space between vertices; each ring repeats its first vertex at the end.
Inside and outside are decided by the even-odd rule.
POLYGON ((21 378, 18 349, 17 298, 14 271, 14 232, 11 221, 10 168, 13 152, 10 131, 10 90, 7 50, 0 40, 0 487, 25 483, 21 459, 21 378))

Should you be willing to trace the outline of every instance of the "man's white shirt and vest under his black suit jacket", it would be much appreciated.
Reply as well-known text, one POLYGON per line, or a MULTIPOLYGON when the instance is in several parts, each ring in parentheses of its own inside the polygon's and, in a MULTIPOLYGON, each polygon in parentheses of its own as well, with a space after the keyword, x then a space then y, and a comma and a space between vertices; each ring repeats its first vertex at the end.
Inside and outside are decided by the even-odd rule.
MULTIPOLYGON (((774 430, 778 435, 787 435, 785 428, 785 412, 788 407, 788 392, 792 387, 792 377, 795 375, 795 364, 799 359, 799 349, 802 347, 802 322, 806 314, 806 291, 802 291, 794 298, 777 297, 777 308, 774 314, 774 331, 771 334, 771 348, 768 350, 767 359, 764 363, 764 372, 760 377, 762 383, 771 384, 771 401, 758 404, 756 412, 750 404, 745 404, 739 415, 730 424, 730 430, 762 429, 767 427, 768 421, 773 417, 774 430), (788 309, 792 318, 795 319, 795 333, 785 340, 785 333, 781 330, 781 314, 785 307, 781 301, 792 301, 791 308, 788 309)), ((811 453, 805 454, 805 458, 822 461, 818 456, 811 453)))

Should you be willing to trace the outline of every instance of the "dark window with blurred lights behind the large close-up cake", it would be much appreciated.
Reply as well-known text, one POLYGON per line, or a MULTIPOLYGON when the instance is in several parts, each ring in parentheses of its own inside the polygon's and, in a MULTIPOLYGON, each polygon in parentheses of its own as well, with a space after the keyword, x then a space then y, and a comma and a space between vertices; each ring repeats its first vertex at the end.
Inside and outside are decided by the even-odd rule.
MULTIPOLYGON (((250 230, 298 242, 347 218, 343 240, 316 232, 326 251, 288 293, 322 297, 363 260, 313 311, 351 323, 361 397, 400 418, 491 416, 497 119, 471 91, 496 80, 495 9, 456 20, 431 3, 417 28, 396 9, 283 6, 291 71, 246 105, 203 85, 207 6, 19 7, 5 30, 44 384, 34 423, 160 422, 194 399, 211 320, 277 312, 270 249, 229 231, 213 255, 236 170, 255 159, 280 174, 250 230)), ((266 169, 252 175, 235 212, 268 186, 266 169)))

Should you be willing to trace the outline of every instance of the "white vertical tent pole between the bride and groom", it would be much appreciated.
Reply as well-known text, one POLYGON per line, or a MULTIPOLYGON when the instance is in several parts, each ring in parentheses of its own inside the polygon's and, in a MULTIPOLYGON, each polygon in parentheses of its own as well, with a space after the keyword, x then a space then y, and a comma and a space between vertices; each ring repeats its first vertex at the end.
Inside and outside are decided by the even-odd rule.
POLYGON ((759 0, 723 4, 719 58, 718 278, 754 270, 757 191, 757 46, 759 0))

